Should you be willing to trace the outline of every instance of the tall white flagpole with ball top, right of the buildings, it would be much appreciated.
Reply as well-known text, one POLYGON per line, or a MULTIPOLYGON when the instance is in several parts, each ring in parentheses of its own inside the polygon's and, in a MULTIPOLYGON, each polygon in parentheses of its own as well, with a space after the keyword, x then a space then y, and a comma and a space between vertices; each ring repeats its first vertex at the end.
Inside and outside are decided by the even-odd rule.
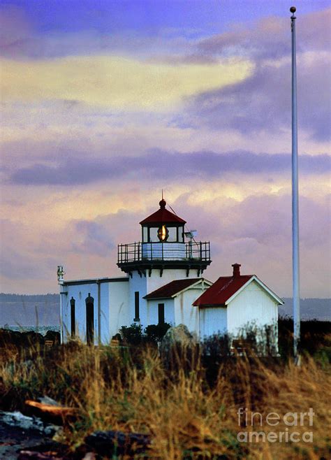
POLYGON ((295 43, 295 6, 291 6, 292 31, 292 258, 293 258, 293 352, 299 364, 300 271, 299 271, 299 190, 297 173, 297 64, 295 43))

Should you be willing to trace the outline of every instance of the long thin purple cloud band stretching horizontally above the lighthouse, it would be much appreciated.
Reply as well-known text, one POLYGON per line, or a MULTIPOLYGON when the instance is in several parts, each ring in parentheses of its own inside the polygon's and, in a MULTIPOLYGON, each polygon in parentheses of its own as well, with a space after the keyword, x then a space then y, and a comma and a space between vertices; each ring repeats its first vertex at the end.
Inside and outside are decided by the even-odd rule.
MULTIPOLYGON (((326 154, 302 155, 300 172, 330 171, 326 154)), ((191 152, 186 154, 154 150, 140 157, 93 159, 80 155, 63 159, 58 166, 35 164, 18 168, 10 182, 19 185, 82 185, 98 180, 138 180, 221 177, 225 173, 259 174, 290 170, 289 154, 256 154, 236 151, 227 153, 191 152)))

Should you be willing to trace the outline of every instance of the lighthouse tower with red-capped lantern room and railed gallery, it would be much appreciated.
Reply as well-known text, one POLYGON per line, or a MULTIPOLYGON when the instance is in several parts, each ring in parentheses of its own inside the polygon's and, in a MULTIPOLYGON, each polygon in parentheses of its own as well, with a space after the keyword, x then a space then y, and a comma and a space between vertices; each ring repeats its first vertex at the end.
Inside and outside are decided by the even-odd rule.
POLYGON ((175 280, 199 278, 211 263, 209 242, 185 241, 186 221, 171 213, 161 199, 160 208, 140 222, 142 240, 118 245, 117 266, 128 273, 129 316, 150 324, 147 294, 175 280))

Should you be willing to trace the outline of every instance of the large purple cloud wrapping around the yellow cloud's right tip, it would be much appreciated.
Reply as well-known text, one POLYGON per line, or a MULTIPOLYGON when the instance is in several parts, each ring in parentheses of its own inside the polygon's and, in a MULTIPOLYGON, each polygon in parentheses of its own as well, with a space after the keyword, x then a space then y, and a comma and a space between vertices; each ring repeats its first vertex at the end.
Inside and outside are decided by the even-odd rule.
MULTIPOLYGON (((298 122, 316 141, 328 141, 331 131, 330 21, 331 8, 297 19, 298 122)), ((205 57, 247 56, 255 70, 242 82, 196 96, 188 114, 194 125, 275 137, 290 129, 289 24, 270 17, 198 43, 205 57)))

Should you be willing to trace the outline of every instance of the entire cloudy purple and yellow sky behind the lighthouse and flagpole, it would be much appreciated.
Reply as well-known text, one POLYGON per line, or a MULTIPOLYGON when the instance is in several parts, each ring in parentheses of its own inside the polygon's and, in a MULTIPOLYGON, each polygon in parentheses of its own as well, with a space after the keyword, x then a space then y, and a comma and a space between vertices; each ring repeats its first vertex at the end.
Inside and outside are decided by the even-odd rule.
MULTIPOLYGON (((296 1, 300 292, 330 297, 331 2, 296 1)), ((1 0, 2 292, 119 276, 165 200, 291 296, 287 0, 1 0)))

